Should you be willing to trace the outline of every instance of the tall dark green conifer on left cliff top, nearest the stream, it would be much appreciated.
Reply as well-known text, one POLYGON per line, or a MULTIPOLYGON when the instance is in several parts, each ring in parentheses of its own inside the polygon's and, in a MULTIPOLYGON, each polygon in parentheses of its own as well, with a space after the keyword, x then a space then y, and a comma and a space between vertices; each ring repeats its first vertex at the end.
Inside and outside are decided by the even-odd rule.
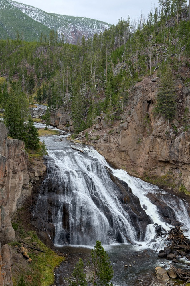
POLYGON ((27 148, 37 151, 40 147, 39 145, 39 137, 38 137, 38 130, 34 126, 34 122, 32 121, 32 118, 30 117, 27 122, 27 148))

